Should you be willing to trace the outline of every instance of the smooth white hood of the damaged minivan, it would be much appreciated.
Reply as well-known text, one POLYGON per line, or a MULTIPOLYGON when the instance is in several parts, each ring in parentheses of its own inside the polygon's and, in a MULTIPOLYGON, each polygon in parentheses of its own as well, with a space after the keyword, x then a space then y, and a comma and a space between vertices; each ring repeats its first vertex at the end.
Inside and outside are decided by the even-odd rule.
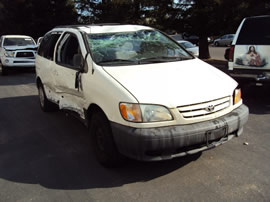
POLYGON ((199 59, 110 66, 104 67, 104 70, 139 103, 169 108, 230 96, 237 87, 237 82, 231 77, 199 59))

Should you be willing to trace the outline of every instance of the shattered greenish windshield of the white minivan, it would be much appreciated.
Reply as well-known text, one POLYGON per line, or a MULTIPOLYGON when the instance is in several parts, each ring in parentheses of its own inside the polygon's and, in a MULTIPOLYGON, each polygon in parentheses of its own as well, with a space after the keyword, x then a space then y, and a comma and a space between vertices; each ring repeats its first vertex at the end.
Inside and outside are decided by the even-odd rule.
POLYGON ((155 30, 88 34, 93 60, 99 65, 134 65, 193 59, 176 42, 155 30))

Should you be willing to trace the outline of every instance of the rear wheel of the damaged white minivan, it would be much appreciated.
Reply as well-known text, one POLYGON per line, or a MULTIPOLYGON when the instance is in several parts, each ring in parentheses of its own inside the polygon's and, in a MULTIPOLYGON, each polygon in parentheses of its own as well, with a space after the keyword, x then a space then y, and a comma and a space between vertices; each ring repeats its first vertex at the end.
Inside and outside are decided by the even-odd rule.
POLYGON ((42 83, 38 84, 38 94, 39 94, 39 104, 42 111, 53 112, 59 109, 55 103, 48 100, 42 83))

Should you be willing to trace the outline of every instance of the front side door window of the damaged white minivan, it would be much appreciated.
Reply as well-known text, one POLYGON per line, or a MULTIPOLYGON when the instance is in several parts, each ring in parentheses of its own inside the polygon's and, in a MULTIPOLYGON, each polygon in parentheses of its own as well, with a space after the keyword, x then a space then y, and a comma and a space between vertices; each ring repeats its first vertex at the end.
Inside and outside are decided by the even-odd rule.
POLYGON ((57 46, 56 62, 77 69, 78 57, 81 57, 81 49, 77 37, 71 33, 64 34, 57 46))

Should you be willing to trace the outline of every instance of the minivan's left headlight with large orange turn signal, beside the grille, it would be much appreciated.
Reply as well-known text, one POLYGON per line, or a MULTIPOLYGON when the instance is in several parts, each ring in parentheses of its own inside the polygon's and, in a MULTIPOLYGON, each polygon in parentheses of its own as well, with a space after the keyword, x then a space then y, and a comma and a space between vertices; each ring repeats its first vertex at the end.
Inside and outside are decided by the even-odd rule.
POLYGON ((160 105, 121 103, 120 112, 125 120, 132 122, 148 123, 173 120, 170 111, 160 105))

